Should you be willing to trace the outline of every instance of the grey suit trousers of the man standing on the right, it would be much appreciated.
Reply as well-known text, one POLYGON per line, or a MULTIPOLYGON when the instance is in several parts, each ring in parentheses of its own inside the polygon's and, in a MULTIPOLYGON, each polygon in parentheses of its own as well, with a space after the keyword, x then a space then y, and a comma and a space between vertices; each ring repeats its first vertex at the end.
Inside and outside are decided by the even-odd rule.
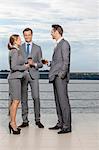
POLYGON ((68 83, 58 76, 53 82, 56 111, 58 116, 57 125, 63 128, 71 127, 71 108, 68 97, 68 83))

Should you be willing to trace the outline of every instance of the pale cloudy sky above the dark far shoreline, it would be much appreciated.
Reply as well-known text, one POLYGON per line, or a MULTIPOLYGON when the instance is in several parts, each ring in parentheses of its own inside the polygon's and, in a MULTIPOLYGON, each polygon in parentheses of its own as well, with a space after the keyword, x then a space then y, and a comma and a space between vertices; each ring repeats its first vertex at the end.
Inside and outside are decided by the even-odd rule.
MULTIPOLYGON (((71 45, 71 72, 99 71, 99 0, 0 0, 0 70, 9 70, 7 43, 33 29, 33 42, 51 60, 55 41, 52 24, 60 24, 71 45)), ((47 67, 44 66, 43 69, 47 67)))

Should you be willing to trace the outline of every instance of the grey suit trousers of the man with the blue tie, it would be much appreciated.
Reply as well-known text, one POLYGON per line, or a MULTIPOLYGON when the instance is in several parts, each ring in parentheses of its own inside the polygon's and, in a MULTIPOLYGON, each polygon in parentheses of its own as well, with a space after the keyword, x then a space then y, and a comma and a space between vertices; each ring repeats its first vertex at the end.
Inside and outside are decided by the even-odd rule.
POLYGON ((31 96, 34 100, 34 115, 35 121, 40 121, 40 98, 39 98, 39 79, 31 79, 29 73, 22 80, 22 119, 23 122, 28 122, 28 84, 31 88, 31 96))

